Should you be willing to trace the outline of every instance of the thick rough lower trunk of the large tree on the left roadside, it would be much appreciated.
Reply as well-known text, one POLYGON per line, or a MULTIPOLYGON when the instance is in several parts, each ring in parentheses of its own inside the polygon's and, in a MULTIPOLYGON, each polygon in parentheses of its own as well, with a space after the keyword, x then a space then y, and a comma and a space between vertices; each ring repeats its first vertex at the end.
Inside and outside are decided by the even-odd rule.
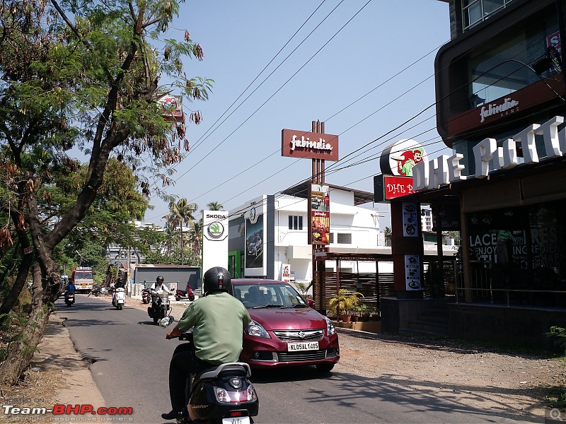
POLYGON ((49 320, 50 311, 43 305, 42 275, 40 267, 33 269, 33 296, 28 322, 23 329, 11 331, 18 334, 10 343, 8 356, 0 363, 1 382, 16 384, 22 373, 29 367, 35 348, 40 343, 43 331, 49 320))

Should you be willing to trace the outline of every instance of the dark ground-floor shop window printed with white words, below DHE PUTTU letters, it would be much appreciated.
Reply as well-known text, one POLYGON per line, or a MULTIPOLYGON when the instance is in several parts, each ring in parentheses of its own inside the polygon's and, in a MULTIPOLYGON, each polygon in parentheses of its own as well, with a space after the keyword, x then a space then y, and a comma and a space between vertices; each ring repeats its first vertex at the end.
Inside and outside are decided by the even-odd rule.
POLYGON ((560 307, 566 300, 564 216, 566 201, 468 214, 473 300, 560 307))

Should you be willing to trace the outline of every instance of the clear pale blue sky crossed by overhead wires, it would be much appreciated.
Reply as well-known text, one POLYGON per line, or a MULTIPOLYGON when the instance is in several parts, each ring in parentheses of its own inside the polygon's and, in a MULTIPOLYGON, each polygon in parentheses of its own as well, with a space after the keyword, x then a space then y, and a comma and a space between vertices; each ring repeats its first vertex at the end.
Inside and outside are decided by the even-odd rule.
MULTIPOLYGON (((450 39, 444 1, 187 0, 166 37, 184 30, 204 52, 185 61, 187 76, 214 83, 206 102, 183 102, 202 122, 187 126, 190 153, 168 193, 200 210, 213 201, 236 210, 311 177, 311 160, 281 156, 281 130, 311 131, 313 120, 339 136, 328 184, 373 193, 379 154, 399 139, 429 157, 450 153, 432 106, 434 57, 450 39)), ((144 222, 162 225, 167 205, 150 203, 144 222)), ((364 207, 391 225, 388 205, 364 207)))

